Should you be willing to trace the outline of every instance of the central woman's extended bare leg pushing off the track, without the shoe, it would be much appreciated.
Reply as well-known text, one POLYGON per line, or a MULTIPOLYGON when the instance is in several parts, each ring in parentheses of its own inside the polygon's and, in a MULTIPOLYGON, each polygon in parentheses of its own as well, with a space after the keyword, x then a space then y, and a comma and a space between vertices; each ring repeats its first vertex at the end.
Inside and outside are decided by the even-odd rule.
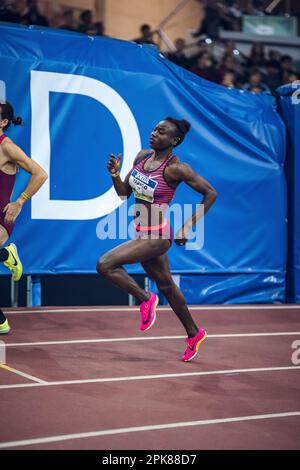
POLYGON ((173 311, 181 321, 188 337, 198 333, 192 315, 186 305, 184 296, 172 279, 167 253, 142 262, 146 273, 154 279, 158 289, 164 294, 173 311))

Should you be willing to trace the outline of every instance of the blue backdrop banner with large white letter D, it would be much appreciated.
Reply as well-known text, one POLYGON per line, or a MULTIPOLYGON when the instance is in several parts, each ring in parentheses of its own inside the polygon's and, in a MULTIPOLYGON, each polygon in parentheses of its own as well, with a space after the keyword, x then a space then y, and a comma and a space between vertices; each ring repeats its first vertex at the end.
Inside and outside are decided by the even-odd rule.
MULTIPOLYGON (((133 200, 126 205, 115 194, 108 156, 122 153, 124 177, 157 122, 173 116, 192 124, 176 154, 219 197, 188 246, 172 245, 172 271, 226 274, 232 297, 236 274, 244 283, 250 275, 247 301, 258 292, 262 301, 284 300, 285 128, 271 96, 202 80, 151 46, 4 25, 0 80, 25 121, 9 135, 49 174, 12 236, 25 273, 92 273, 99 256, 126 240, 133 200), (115 236, 105 238, 107 227, 115 236)), ((27 180, 20 171, 15 195, 27 180)), ((170 213, 176 226, 201 199, 179 186, 170 213)), ((143 272, 138 265, 128 270, 143 272)))

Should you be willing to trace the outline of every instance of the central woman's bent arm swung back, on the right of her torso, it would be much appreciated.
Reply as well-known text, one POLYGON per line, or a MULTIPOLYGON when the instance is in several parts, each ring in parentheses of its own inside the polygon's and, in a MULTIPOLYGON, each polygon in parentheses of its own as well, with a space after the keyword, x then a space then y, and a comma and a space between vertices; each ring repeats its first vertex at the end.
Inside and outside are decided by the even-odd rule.
POLYGON ((182 181, 185 182, 188 186, 203 195, 198 209, 193 213, 192 217, 184 222, 183 227, 175 236, 175 242, 183 245, 188 240, 188 233, 191 228, 213 205, 218 197, 218 193, 206 179, 198 175, 198 173, 196 173, 192 167, 186 163, 170 165, 168 168, 168 176, 177 184, 182 181), (204 207, 202 207, 202 205, 204 207))

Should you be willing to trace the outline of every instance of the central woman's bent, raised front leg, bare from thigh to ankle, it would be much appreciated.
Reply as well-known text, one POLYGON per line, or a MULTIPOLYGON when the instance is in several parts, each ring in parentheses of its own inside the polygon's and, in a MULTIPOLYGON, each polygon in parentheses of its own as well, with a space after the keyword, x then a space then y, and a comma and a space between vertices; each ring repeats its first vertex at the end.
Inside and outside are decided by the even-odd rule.
POLYGON ((165 239, 129 240, 102 256, 97 263, 97 271, 120 289, 133 295, 139 302, 144 302, 149 299, 149 294, 129 276, 122 265, 141 263, 153 256, 160 256, 169 247, 170 242, 165 239))

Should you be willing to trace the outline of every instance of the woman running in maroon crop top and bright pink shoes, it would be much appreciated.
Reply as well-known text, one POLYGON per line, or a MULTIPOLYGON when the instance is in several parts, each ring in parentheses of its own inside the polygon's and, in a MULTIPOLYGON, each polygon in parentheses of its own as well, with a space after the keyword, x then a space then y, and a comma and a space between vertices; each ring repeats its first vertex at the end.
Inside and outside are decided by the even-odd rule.
MULTIPOLYGON (((172 233, 164 213, 182 182, 204 196, 204 213, 217 198, 215 189, 204 178, 173 155, 174 147, 182 143, 189 128, 190 123, 184 119, 167 117, 159 122, 150 137, 152 150, 141 150, 138 153, 133 168, 124 181, 118 171, 121 155, 116 157, 111 154, 107 168, 117 194, 128 198, 133 192, 135 196, 136 238, 112 249, 97 263, 100 274, 133 295, 140 303, 140 329, 146 331, 155 322, 158 297, 153 292, 142 289, 123 268, 124 264, 141 263, 186 330, 187 349, 182 356, 185 362, 196 356, 200 344, 206 338, 206 331, 197 328, 181 290, 172 279, 167 256, 172 233)), ((175 235, 177 245, 186 244, 190 230, 202 215, 203 210, 199 207, 184 222, 175 235)))

